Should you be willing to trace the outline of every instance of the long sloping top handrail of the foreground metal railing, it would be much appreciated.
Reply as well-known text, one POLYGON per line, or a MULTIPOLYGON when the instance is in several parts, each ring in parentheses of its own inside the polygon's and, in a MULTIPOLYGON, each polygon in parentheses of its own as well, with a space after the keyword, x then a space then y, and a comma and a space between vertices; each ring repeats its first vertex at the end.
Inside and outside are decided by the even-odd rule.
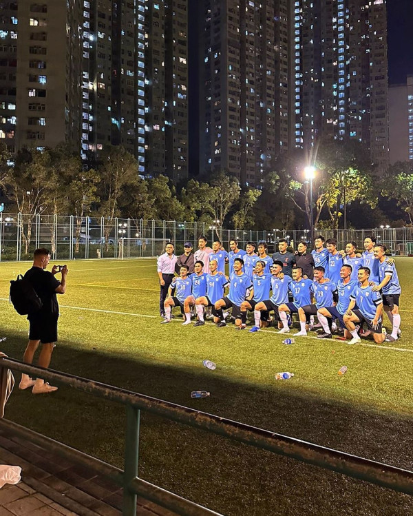
MULTIPOLYGON (((0 367, 21 371, 36 375, 52 382, 58 382, 71 386, 100 398, 125 404, 129 408, 140 409, 166 417, 167 419, 194 426, 230 439, 249 444, 257 448, 266 449, 291 457, 301 462, 314 464, 322 468, 342 473, 350 477, 366 480, 372 484, 387 487, 394 491, 413 495, 413 472, 402 468, 375 462, 364 457, 351 455, 332 448, 326 448, 295 437, 274 433, 255 426, 249 426, 240 422, 228 420, 224 417, 212 415, 181 406, 175 403, 151 398, 150 396, 134 393, 125 389, 110 386, 100 382, 94 382, 76 375, 70 375, 43 367, 34 367, 13 358, 2 358, 0 367)), ((128 414, 129 416, 129 414, 128 414)), ((136 451, 137 453, 137 451, 136 451)), ((137 466, 136 466, 137 467, 137 466)), ((126 471, 126 468, 125 468, 126 471)), ((127 482, 129 490, 138 492, 139 479, 132 475, 127 482)), ((140 484, 142 486, 142 484, 140 484)), ((142 493, 142 491, 139 491, 142 493)), ((162 502, 162 500, 160 501, 162 502)), ((192 502, 189 502, 192 504, 192 502)), ((162 504, 162 503, 161 503, 162 504)), ((169 506, 165 505, 169 508, 169 506)), ((128 513, 124 513, 125 515, 128 513)), ((189 514, 189 513, 182 513, 189 514)))

